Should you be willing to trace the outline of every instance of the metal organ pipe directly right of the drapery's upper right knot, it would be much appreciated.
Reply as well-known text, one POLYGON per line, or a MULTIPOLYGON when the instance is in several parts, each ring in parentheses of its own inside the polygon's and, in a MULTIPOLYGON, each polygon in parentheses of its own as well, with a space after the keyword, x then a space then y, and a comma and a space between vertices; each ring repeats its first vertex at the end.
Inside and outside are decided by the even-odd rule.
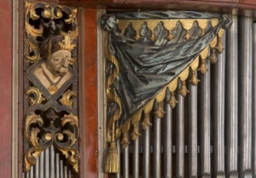
POLYGON ((226 50, 226 153, 227 175, 238 177, 238 21, 232 15, 232 26, 227 30, 226 50))

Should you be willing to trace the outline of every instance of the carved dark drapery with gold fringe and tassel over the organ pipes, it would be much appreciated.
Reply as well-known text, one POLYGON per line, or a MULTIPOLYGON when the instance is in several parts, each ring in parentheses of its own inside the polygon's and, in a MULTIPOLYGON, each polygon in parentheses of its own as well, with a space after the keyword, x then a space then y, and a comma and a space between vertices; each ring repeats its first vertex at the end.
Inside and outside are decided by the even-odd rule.
POLYGON ((196 70, 206 74, 206 60, 218 61, 221 37, 231 24, 227 15, 192 11, 129 12, 102 16, 106 31, 107 142, 106 172, 119 172, 116 139, 121 145, 147 129, 154 114, 164 116, 163 100, 176 107, 175 93, 189 93, 186 82, 197 85, 196 70), (189 74, 190 73, 190 74, 189 74), (180 80, 181 87, 177 88, 180 80), (142 118, 143 117, 143 118, 142 118))

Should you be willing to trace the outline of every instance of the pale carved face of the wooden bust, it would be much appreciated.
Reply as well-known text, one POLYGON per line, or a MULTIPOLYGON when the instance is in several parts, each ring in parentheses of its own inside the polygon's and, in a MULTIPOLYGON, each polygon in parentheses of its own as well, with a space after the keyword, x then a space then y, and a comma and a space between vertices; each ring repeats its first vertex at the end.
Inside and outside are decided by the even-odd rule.
POLYGON ((50 55, 46 60, 46 66, 51 74, 56 77, 67 74, 68 65, 71 63, 72 57, 70 51, 59 50, 50 55))

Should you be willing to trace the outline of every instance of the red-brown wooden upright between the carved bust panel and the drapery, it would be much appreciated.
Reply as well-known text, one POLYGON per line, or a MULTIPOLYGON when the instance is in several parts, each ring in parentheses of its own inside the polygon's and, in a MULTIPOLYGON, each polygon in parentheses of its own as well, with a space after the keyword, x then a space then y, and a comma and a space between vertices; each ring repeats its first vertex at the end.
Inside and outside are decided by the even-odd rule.
MULTIPOLYGON (((97 103, 97 10, 85 9, 84 16, 84 123, 81 125, 85 129, 84 160, 85 170, 83 177, 98 177, 98 103, 97 103)), ((81 176, 82 177, 82 176, 81 176)))

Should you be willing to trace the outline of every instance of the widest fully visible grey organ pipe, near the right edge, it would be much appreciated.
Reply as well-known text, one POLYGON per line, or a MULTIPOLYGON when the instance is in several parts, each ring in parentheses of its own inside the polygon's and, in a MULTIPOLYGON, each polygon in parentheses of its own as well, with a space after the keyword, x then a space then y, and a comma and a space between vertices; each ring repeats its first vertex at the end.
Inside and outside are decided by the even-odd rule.
POLYGON ((239 163, 245 177, 252 174, 252 18, 239 20, 239 163))

